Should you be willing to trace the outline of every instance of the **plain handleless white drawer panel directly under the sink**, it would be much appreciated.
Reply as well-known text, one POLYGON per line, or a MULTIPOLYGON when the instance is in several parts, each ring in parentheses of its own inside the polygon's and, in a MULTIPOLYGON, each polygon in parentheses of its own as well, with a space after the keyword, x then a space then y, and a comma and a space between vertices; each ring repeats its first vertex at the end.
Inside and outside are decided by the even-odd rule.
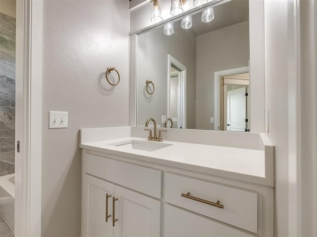
POLYGON ((84 173, 161 198, 162 171, 85 153, 84 173))

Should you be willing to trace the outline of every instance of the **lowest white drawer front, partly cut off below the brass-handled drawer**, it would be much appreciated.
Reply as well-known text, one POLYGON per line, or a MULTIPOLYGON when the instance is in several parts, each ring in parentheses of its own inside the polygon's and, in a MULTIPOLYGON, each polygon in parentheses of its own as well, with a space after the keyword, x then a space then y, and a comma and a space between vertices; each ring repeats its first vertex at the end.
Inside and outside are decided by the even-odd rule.
POLYGON ((165 204, 164 237, 252 237, 254 235, 165 204))

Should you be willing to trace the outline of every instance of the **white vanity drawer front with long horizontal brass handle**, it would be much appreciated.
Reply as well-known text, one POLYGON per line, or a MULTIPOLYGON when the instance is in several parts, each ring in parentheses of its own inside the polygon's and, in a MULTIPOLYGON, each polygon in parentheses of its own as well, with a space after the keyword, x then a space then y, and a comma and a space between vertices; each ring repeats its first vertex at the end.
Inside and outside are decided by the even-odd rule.
POLYGON ((257 233, 258 194, 194 178, 165 173, 165 201, 199 214, 257 233), (182 197, 183 195, 187 195, 182 197), (191 199, 197 197, 200 199, 191 199), (203 200, 201 200, 203 199, 203 200), (204 203, 220 201, 223 208, 204 203))

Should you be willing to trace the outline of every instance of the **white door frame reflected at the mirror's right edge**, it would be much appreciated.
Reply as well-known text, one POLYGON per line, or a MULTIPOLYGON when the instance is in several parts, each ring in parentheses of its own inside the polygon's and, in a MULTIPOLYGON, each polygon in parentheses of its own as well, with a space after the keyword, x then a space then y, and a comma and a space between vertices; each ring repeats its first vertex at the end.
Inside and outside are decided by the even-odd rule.
MULTIPOLYGON (((214 79, 214 130, 220 130, 220 78, 224 76, 240 74, 240 73, 248 73, 249 66, 241 67, 241 68, 232 68, 228 70, 222 70, 214 72, 213 79, 214 79)), ((250 90, 250 88, 249 88, 250 90)), ((250 123, 249 123, 250 124, 250 123)), ((249 125, 250 127, 250 125, 249 125)))

